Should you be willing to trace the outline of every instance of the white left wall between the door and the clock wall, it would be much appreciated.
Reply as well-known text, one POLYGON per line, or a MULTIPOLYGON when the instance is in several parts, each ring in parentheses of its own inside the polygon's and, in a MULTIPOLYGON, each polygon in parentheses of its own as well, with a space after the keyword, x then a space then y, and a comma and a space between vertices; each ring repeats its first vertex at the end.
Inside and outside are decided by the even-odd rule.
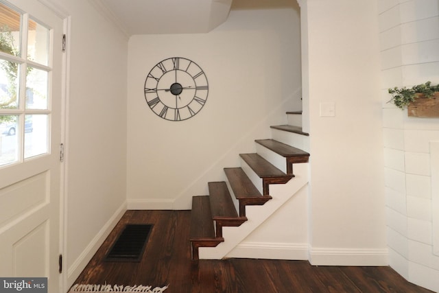
POLYGON ((71 15, 65 258, 71 285, 126 209, 128 38, 89 1, 58 5, 71 15))

